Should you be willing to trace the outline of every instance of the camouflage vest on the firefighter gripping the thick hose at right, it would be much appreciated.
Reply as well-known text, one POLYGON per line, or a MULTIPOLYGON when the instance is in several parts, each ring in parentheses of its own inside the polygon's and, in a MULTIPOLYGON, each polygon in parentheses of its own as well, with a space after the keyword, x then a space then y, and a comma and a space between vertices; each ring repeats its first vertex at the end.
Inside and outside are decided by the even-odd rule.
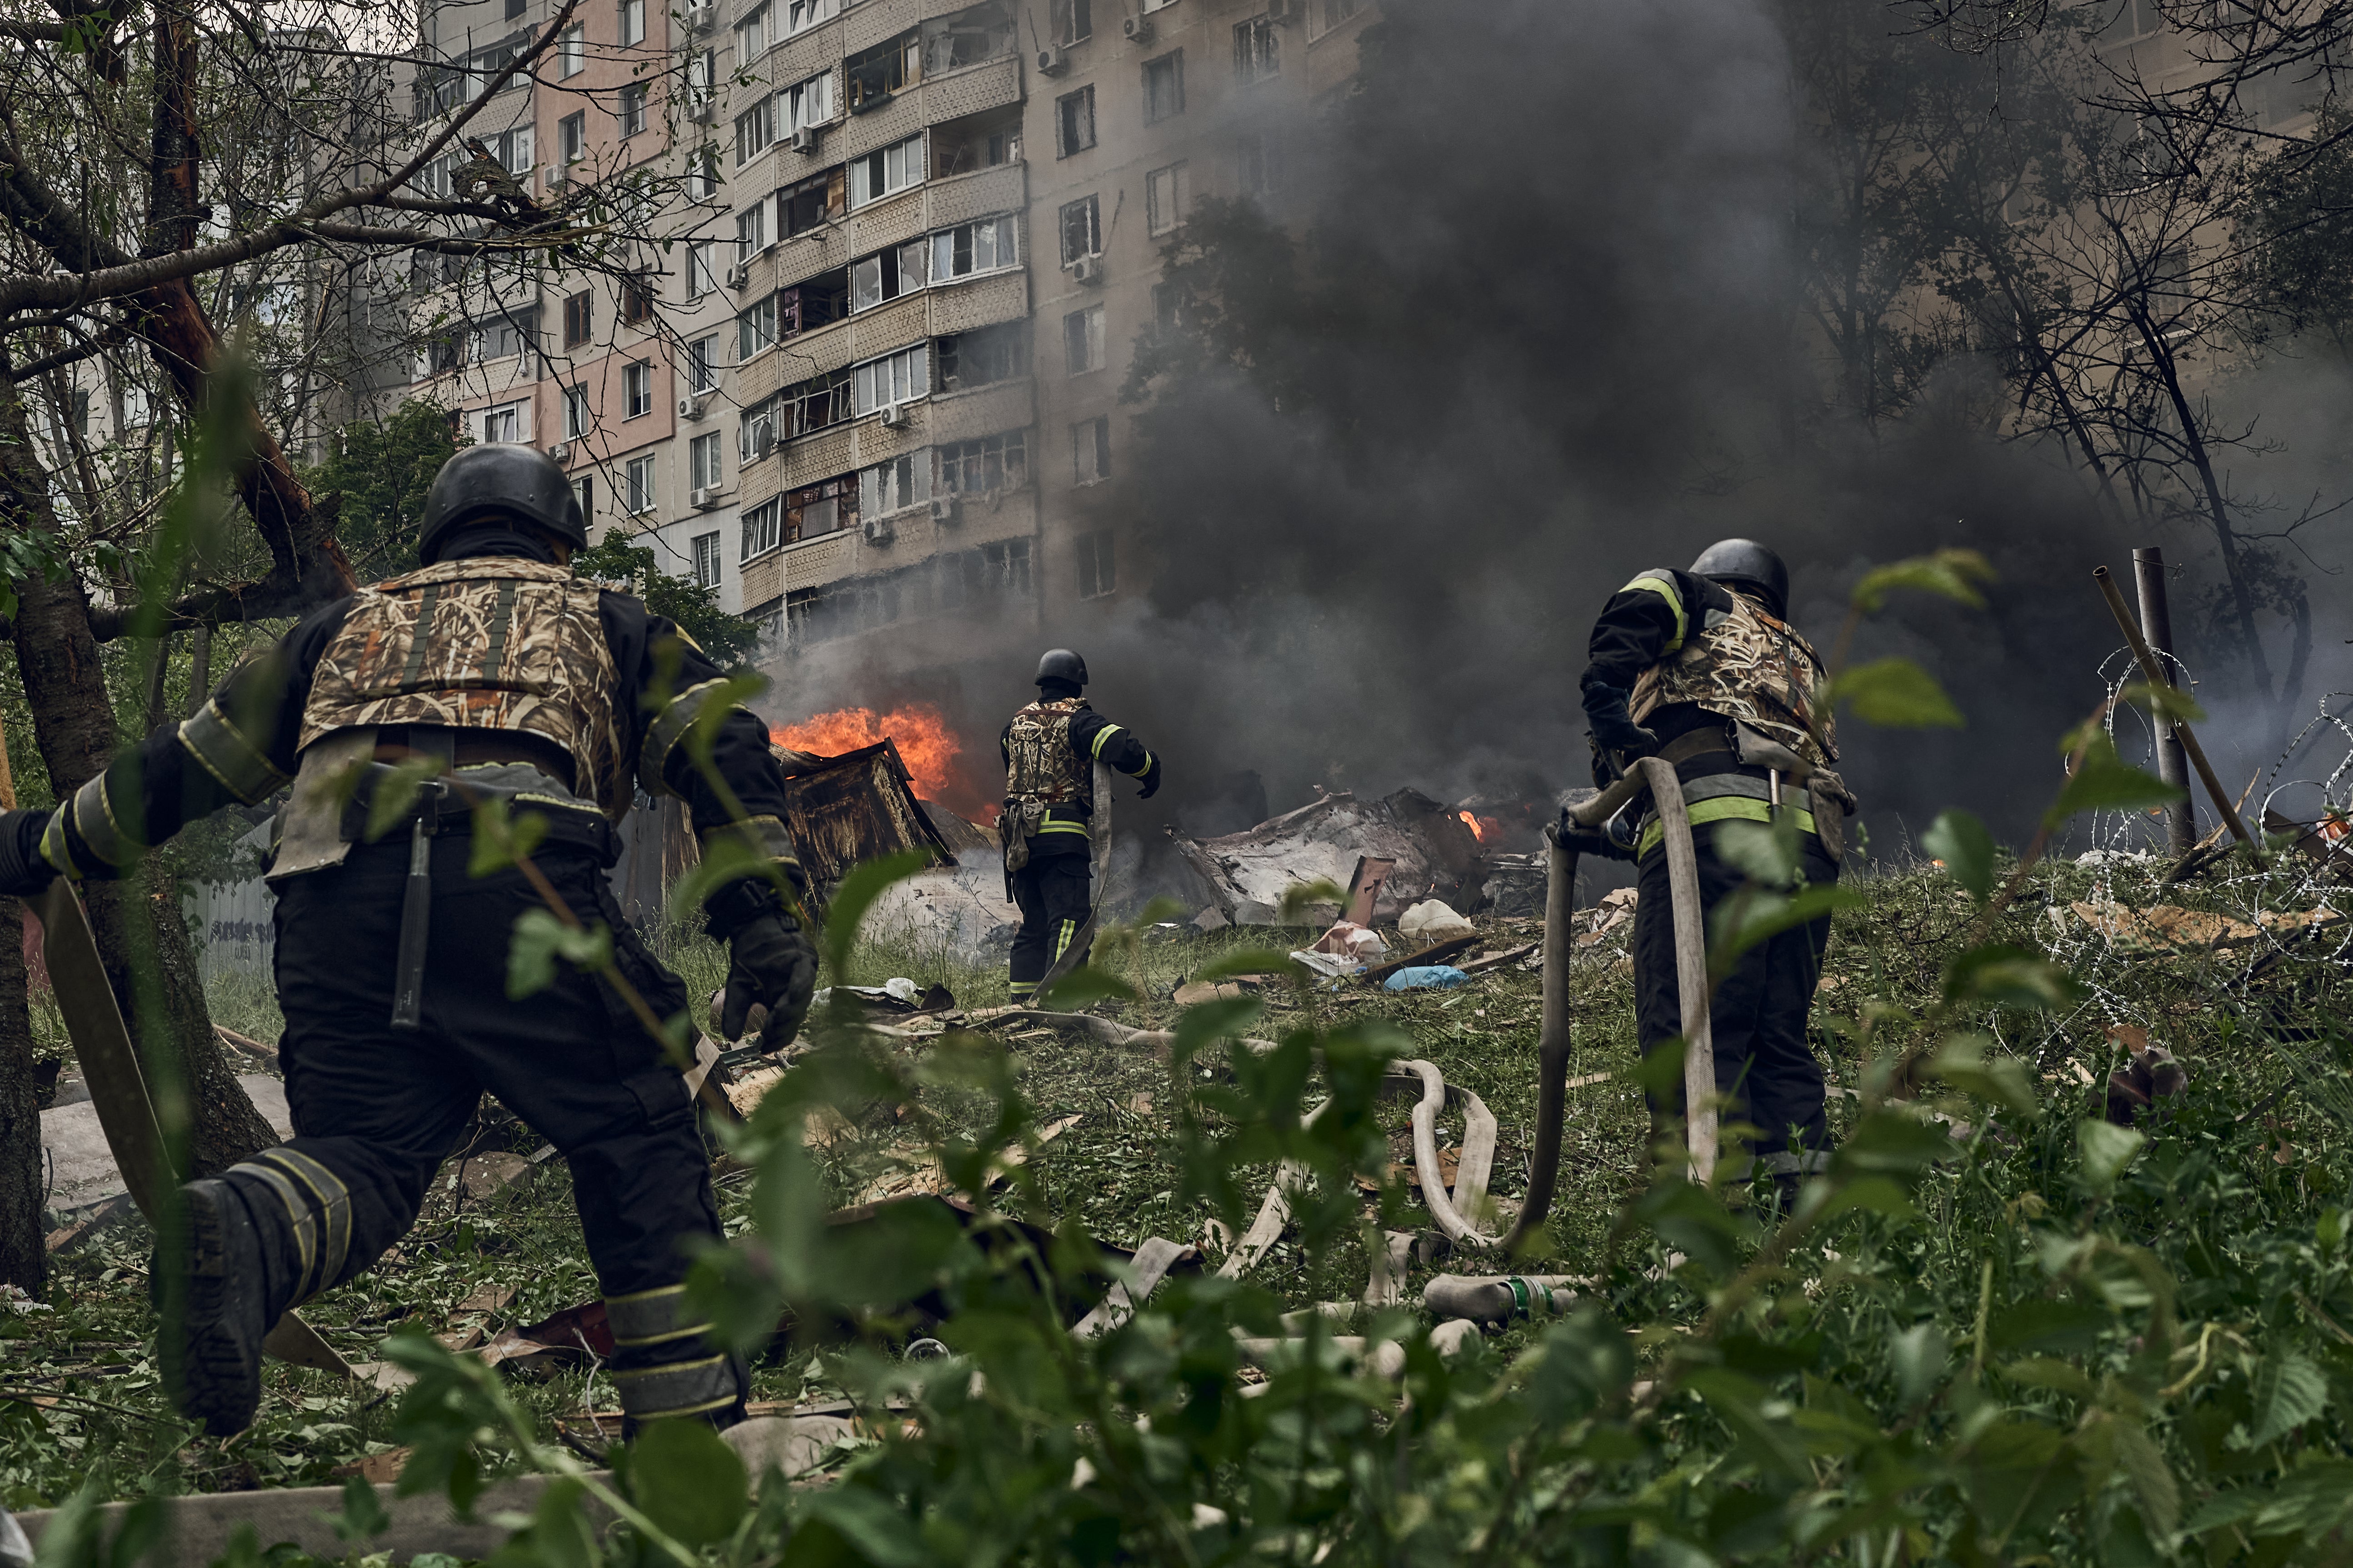
POLYGON ((1746 595, 1727 597, 1729 611, 1706 611, 1678 651, 1642 670, 1633 684, 1633 722, 1697 703, 1760 729, 1814 766, 1838 762, 1838 722, 1828 708, 1817 712, 1828 675, 1814 644, 1746 595))

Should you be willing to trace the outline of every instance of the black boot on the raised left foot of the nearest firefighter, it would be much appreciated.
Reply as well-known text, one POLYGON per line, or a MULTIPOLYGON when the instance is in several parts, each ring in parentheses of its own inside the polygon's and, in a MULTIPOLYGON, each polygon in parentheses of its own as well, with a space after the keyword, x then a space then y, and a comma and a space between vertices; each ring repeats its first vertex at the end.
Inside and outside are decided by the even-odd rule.
POLYGON ((264 1239, 238 1190, 219 1178, 179 1190, 186 1265, 174 1279, 158 1255, 148 1291, 162 1319, 162 1385, 212 1436, 245 1432, 261 1406, 261 1338, 271 1312, 264 1239), (176 1298, 176 1300, 174 1300, 176 1298))

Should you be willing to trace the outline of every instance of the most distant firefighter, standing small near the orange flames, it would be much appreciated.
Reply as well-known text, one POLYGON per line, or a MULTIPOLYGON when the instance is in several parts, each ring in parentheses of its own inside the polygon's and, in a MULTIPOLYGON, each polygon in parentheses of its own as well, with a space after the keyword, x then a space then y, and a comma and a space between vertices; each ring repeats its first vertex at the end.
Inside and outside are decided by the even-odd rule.
POLYGON ((1087 961, 1094 849, 1094 764, 1160 788, 1160 759, 1132 729, 1087 705, 1087 661, 1049 649, 1038 661, 1038 701, 1014 715, 998 738, 1005 755, 1005 896, 1021 910, 1014 936, 1014 1001, 1028 1001, 1071 947, 1066 969, 1087 961))

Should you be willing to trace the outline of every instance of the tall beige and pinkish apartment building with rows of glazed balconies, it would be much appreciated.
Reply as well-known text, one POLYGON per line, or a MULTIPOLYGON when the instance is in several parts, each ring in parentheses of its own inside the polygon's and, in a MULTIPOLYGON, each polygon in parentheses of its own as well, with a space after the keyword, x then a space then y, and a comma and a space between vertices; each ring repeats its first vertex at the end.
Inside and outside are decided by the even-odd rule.
MULTIPOLYGON (((440 2, 424 120, 548 0, 440 2)), ((532 193, 659 174, 631 277, 421 259, 379 402, 565 463, 593 517, 769 630, 1028 642, 1136 588, 1104 484, 1195 200, 1282 205, 1372 0, 588 0, 468 127, 532 193)), ((447 195, 473 153, 419 181, 447 195)), ((871 651, 871 649, 868 649, 871 651)))

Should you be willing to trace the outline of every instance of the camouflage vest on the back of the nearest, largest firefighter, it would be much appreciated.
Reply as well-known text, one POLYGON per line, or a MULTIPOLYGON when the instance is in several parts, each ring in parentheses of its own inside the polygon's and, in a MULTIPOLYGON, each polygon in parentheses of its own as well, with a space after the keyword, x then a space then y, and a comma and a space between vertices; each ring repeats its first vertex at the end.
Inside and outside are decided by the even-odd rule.
POLYGON ((513 557, 438 562, 362 588, 320 654, 296 745, 386 724, 515 729, 572 752, 574 790, 621 820, 633 771, 598 597, 569 567, 513 557))

